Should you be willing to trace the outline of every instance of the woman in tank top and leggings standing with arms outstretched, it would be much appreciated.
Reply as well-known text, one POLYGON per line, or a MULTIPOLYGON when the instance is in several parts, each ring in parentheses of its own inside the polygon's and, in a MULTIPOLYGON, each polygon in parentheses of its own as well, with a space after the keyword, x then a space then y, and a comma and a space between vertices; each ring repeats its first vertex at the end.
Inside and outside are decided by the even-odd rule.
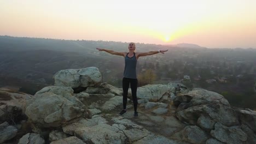
POLYGON ((123 56, 125 58, 125 69, 124 69, 124 77, 123 77, 123 110, 119 113, 120 115, 124 115, 126 113, 126 103, 127 103, 127 95, 129 85, 131 84, 132 91, 132 100, 134 106, 134 117, 138 117, 137 112, 137 75, 136 75, 136 64, 139 57, 154 55, 156 53, 162 53, 168 50, 158 50, 158 51, 149 51, 149 52, 134 52, 136 47, 135 43, 130 43, 128 46, 129 52, 116 52, 112 50, 100 49, 97 48, 98 51, 106 51, 112 55, 123 56))

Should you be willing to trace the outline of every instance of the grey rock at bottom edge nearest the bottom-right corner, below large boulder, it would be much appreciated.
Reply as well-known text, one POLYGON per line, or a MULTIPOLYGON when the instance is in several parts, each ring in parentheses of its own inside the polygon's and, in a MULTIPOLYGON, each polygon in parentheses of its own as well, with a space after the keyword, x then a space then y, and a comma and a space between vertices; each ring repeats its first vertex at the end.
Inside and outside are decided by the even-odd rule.
POLYGON ((247 134, 239 127, 226 127, 221 123, 216 123, 211 136, 227 144, 242 144, 247 142, 247 134))

